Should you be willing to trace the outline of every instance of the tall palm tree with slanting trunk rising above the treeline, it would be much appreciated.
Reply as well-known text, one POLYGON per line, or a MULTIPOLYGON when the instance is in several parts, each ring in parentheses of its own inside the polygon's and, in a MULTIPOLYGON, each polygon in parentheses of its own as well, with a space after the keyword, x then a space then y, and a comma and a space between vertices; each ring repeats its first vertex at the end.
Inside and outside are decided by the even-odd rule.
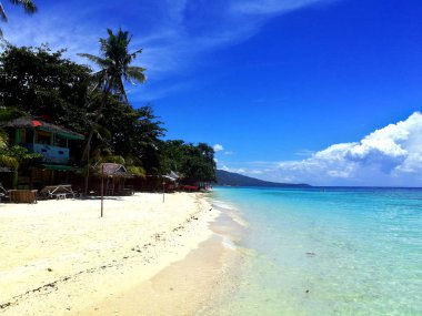
POLYGON ((100 88, 102 91, 102 101, 90 129, 87 144, 82 154, 82 161, 87 162, 89 161, 92 135, 96 131, 97 124, 101 118, 102 110, 105 106, 110 93, 117 93, 123 98, 124 102, 128 102, 123 81, 134 84, 135 82, 142 83, 147 79, 144 68, 130 65, 137 58, 137 54, 141 53, 142 50, 140 49, 129 53, 128 48, 132 39, 129 32, 123 32, 121 29, 119 29, 115 34, 110 29, 107 29, 107 32, 109 37, 107 39, 100 39, 101 57, 89 53, 79 54, 96 63, 100 68, 100 70, 94 73, 94 90, 100 88))

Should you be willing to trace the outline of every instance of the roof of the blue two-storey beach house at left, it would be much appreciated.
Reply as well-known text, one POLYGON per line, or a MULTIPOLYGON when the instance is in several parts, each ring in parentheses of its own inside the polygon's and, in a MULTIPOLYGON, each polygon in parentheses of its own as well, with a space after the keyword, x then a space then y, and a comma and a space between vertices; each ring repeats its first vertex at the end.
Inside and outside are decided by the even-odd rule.
POLYGON ((54 125, 44 121, 34 120, 32 118, 19 118, 10 122, 7 122, 4 124, 1 124, 1 126, 14 128, 14 129, 41 130, 41 131, 59 134, 60 136, 69 139, 69 140, 84 140, 84 136, 77 132, 72 132, 68 129, 64 129, 62 126, 54 125))

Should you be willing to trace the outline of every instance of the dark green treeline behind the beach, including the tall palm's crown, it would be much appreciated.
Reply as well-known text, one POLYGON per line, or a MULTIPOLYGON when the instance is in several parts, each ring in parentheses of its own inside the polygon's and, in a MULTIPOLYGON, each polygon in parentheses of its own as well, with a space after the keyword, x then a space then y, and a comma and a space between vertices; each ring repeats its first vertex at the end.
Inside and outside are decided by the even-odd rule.
MULTIPOLYGON (((123 72, 112 69, 114 73, 111 73, 110 64, 115 63, 110 59, 112 52, 104 50, 115 49, 112 45, 121 40, 119 37, 124 40, 124 35, 127 49, 130 37, 121 30, 115 35, 109 30, 109 38, 100 40, 103 54, 97 60, 100 65, 97 72, 66 59, 64 50, 52 51, 47 45, 7 45, 0 54, 0 120, 39 118, 86 135, 86 141, 72 149, 78 165, 115 162, 141 176, 175 171, 188 183, 214 181, 211 146, 164 141, 163 122, 154 115, 152 108, 131 104, 125 96, 122 80, 130 80, 127 75, 133 74, 142 82, 138 74, 142 75, 144 69, 133 68, 138 74, 128 67, 123 72)), ((125 50, 123 53, 134 59, 140 51, 129 54, 125 50)), ((81 55, 91 61, 97 58, 81 55)), ((28 159, 26 154, 13 155, 4 135, 0 135, 0 164, 16 167, 19 160, 28 159), (12 163, 13 159, 18 162, 12 163)))

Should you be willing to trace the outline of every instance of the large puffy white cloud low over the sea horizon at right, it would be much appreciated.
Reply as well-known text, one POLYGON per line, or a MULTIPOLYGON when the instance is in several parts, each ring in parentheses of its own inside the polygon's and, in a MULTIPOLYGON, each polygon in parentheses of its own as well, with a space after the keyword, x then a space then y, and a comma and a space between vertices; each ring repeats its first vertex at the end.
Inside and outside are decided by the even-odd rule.
POLYGON ((415 112, 360 142, 334 144, 305 160, 280 162, 278 171, 321 184, 421 185, 422 114, 415 112))

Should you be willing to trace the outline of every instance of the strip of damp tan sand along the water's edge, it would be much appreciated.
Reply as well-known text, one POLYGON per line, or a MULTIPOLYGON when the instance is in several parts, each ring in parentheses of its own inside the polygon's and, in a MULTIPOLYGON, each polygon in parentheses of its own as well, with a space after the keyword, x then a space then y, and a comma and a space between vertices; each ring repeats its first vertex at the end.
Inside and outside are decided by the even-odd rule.
POLYGON ((207 315, 237 287, 241 254, 234 243, 244 234, 229 210, 212 206, 219 215, 209 223, 211 235, 185 257, 129 290, 71 315, 207 315))

